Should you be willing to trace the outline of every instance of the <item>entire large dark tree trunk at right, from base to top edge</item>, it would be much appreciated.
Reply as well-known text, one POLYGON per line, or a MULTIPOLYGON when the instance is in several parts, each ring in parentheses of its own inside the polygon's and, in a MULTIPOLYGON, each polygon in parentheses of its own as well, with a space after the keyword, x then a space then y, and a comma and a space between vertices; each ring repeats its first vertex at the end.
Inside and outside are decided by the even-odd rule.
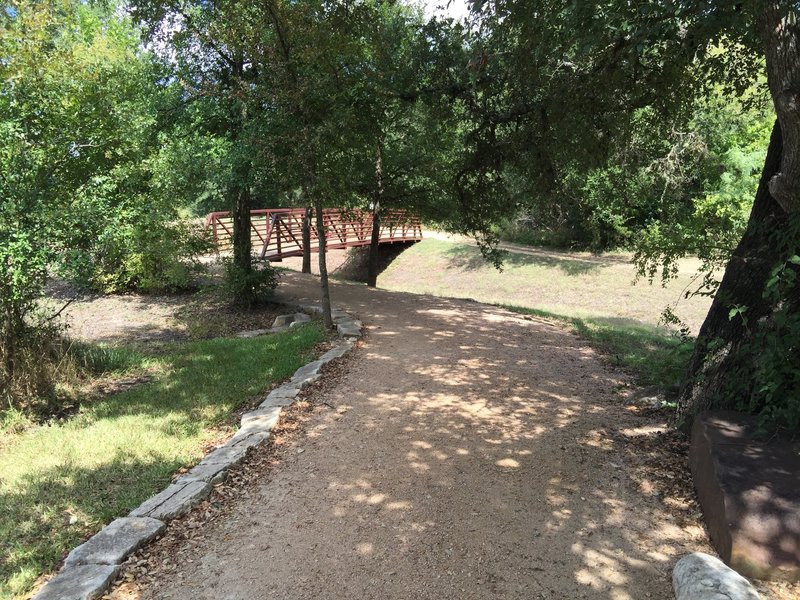
MULTIPOLYGON (((779 240, 791 237, 800 212, 800 15, 789 0, 763 0, 759 10, 777 121, 747 230, 725 269, 681 387, 678 421, 684 427, 703 409, 732 407, 750 395, 758 348, 748 346, 771 326, 778 308, 764 292, 772 269, 788 259, 779 240)), ((795 289, 784 305, 793 313, 799 310, 796 294, 795 289)))

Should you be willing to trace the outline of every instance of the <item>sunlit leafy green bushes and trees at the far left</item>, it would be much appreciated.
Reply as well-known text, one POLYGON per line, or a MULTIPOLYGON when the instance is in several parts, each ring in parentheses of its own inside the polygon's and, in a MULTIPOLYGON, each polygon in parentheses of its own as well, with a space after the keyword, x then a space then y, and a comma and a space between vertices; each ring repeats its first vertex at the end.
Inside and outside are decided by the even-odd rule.
POLYGON ((131 23, 79 2, 0 13, 0 382, 52 394, 58 332, 39 307, 59 272, 102 291, 193 284, 203 249, 164 179, 165 73, 131 23), (52 363, 52 364, 51 364, 52 363))

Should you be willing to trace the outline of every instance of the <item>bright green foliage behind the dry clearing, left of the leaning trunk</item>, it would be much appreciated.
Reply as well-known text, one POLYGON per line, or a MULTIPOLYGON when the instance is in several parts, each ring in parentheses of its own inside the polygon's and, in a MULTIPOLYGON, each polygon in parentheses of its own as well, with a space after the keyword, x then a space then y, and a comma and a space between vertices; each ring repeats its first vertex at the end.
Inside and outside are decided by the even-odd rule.
POLYGON ((515 180, 519 214, 503 236, 635 249, 645 270, 686 254, 717 265, 744 232, 764 164, 773 116, 763 93, 758 100, 702 98, 680 128, 650 108, 635 111, 602 166, 561 169, 555 204, 515 180))

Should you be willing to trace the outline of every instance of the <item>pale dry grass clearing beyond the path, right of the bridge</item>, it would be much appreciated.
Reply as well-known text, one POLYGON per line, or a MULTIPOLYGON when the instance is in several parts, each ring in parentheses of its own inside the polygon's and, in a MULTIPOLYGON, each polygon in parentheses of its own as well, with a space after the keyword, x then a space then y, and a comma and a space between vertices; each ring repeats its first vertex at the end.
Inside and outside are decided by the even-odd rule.
MULTIPOLYGON (((474 245, 426 238, 403 252, 381 274, 378 285, 654 328, 663 309, 681 298, 697 267, 696 261, 683 261, 678 279, 667 287, 632 285, 636 273, 629 254, 512 249, 498 271, 474 245)), ((681 299, 675 312, 696 333, 709 305, 708 298, 681 299)))

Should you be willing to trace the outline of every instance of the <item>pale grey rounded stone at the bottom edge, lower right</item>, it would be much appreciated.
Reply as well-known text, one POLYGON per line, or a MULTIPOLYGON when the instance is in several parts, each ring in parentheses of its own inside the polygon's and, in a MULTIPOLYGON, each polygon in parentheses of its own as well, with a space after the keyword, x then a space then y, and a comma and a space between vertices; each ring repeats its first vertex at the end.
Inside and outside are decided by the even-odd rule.
POLYGON ((676 600, 759 600, 747 579, 715 556, 695 552, 672 571, 676 600))

